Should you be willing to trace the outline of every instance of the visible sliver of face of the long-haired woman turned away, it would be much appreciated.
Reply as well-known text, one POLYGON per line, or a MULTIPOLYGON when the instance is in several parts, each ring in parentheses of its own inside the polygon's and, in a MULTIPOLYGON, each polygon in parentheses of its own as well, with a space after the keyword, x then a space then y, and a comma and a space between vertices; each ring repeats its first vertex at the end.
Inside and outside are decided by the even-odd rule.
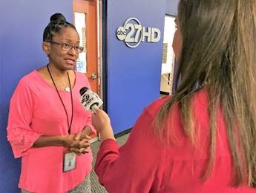
POLYGON ((174 40, 172 42, 172 48, 174 50, 175 58, 177 61, 180 59, 180 53, 183 45, 183 38, 180 32, 180 24, 178 23, 177 18, 175 18, 176 31, 174 33, 174 40))

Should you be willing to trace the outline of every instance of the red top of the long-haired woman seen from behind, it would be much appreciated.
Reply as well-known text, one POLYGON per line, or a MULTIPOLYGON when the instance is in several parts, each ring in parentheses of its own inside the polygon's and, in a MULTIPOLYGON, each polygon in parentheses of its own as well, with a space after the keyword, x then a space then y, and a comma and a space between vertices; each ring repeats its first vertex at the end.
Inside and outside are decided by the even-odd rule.
POLYGON ((238 189, 232 182, 232 158, 220 110, 217 112, 217 138, 214 169, 204 182, 209 152, 209 116, 206 92, 192 100, 197 143, 191 146, 183 132, 179 109, 174 104, 168 120, 176 143, 164 145, 151 126, 154 117, 170 96, 146 107, 134 125, 127 142, 120 147, 114 140, 100 146, 95 171, 108 192, 256 192, 245 186, 238 189))

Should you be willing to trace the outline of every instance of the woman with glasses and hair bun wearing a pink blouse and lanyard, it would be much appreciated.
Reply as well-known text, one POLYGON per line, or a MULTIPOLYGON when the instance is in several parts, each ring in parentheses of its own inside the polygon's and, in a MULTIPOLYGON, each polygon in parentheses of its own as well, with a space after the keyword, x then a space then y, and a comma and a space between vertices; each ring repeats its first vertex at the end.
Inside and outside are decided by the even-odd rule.
POLYGON ((43 35, 49 63, 25 75, 10 101, 7 138, 15 158, 22 157, 22 192, 64 193, 88 184, 92 154, 91 112, 79 103, 79 89, 88 79, 73 71, 79 35, 73 24, 56 13, 43 35))

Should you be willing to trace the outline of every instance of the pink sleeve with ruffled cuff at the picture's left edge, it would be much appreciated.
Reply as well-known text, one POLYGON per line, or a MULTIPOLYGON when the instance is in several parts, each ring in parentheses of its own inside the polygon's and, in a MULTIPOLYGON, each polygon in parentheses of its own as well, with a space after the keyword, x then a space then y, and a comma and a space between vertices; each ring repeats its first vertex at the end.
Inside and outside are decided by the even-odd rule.
POLYGON ((25 81, 20 81, 10 100, 7 140, 14 158, 22 157, 40 134, 30 128, 34 96, 25 81))

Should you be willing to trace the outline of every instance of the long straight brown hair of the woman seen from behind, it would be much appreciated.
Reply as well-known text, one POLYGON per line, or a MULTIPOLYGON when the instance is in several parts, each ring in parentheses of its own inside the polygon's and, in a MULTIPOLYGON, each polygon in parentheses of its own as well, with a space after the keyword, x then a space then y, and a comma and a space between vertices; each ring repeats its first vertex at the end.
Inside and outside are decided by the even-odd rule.
MULTIPOLYGON (((210 119, 209 166, 215 155, 218 107, 229 138, 234 167, 233 185, 256 187, 256 2, 255 0, 181 0, 177 20, 183 36, 178 63, 177 93, 155 119, 163 137, 171 106, 177 103, 183 128, 194 141, 191 98, 194 85, 205 85, 210 119)), ((167 135, 169 136, 169 135, 167 135)))

